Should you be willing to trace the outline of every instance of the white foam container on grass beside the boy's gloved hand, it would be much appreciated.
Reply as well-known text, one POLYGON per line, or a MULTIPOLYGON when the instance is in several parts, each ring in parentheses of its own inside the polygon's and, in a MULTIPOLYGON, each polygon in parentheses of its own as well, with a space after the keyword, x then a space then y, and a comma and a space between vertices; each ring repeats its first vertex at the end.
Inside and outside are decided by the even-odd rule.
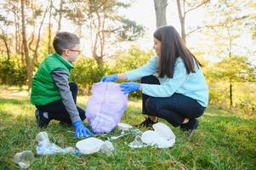
POLYGON ((92 137, 78 141, 76 147, 82 154, 93 154, 100 151, 102 144, 104 144, 103 140, 92 137))

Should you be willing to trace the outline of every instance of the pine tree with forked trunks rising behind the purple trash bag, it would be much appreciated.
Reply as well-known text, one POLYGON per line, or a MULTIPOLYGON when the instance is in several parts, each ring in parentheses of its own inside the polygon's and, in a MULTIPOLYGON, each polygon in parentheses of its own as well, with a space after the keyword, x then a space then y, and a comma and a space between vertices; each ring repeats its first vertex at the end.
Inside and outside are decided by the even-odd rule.
POLYGON ((116 41, 134 41, 144 32, 143 26, 118 14, 118 10, 128 8, 130 3, 118 0, 70 0, 70 3, 65 16, 78 26, 80 36, 82 26, 87 26, 90 31, 91 53, 98 65, 103 65, 106 43, 110 45, 116 41))

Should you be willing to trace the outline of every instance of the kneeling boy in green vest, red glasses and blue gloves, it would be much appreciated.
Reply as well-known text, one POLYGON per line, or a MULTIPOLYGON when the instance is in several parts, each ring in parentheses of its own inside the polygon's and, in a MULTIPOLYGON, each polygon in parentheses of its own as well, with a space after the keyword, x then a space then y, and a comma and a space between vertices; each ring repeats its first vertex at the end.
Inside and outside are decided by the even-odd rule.
POLYGON ((80 40, 69 32, 59 32, 54 37, 54 54, 48 54, 32 80, 31 103, 36 105, 38 127, 47 127, 51 120, 73 124, 75 136, 93 135, 82 121, 85 111, 77 104, 77 83, 68 82, 77 59, 80 40))

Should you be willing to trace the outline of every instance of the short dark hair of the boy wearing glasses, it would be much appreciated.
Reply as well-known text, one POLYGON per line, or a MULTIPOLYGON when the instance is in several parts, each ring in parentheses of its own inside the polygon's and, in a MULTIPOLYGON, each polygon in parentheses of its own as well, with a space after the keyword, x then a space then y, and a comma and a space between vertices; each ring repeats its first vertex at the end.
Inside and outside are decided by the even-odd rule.
POLYGON ((54 37, 54 50, 57 54, 61 55, 63 49, 74 48, 80 43, 79 37, 67 31, 57 32, 54 37))

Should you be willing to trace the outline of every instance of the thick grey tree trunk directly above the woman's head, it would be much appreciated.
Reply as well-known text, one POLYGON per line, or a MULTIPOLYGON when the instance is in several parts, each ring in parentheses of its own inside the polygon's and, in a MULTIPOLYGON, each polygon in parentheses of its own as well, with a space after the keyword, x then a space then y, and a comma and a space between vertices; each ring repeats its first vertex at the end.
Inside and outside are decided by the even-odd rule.
POLYGON ((154 0, 156 11, 156 27, 166 26, 166 7, 168 5, 167 0, 154 0))

